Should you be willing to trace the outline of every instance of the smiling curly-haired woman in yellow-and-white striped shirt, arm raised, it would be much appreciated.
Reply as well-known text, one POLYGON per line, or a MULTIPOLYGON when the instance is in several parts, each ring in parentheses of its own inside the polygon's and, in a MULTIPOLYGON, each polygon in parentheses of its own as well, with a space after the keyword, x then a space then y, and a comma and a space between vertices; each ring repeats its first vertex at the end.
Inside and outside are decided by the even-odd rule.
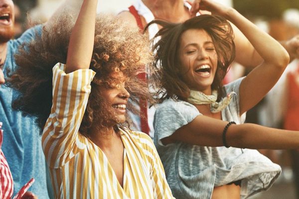
POLYGON ((20 49, 14 105, 44 126, 55 198, 172 198, 151 139, 126 127, 130 96, 150 100, 137 78, 151 60, 149 41, 117 19, 96 18, 96 7, 84 0, 74 26, 60 17, 20 49))

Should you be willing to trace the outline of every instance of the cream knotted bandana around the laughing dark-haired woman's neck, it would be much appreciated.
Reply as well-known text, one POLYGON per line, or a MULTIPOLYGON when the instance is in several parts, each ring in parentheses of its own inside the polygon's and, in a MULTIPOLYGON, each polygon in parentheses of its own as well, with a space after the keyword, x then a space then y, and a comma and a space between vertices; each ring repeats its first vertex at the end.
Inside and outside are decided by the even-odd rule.
POLYGON ((221 101, 216 102, 218 93, 217 91, 212 91, 212 95, 208 96, 200 91, 193 91, 190 90, 190 96, 187 99, 189 103, 192 104, 210 104, 211 105, 211 112, 216 113, 223 110, 232 100, 233 95, 236 95, 235 92, 229 93, 225 98, 223 98, 221 101))

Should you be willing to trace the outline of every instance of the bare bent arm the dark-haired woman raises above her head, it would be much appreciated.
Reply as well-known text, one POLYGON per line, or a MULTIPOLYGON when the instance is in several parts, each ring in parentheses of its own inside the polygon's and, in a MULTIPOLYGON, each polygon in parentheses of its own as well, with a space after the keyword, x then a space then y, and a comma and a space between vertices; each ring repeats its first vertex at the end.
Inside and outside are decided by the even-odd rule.
POLYGON ((241 83, 239 91, 241 115, 262 100, 276 84, 289 64, 289 54, 278 41, 260 30, 235 9, 211 0, 201 0, 200 5, 234 23, 264 60, 241 83))

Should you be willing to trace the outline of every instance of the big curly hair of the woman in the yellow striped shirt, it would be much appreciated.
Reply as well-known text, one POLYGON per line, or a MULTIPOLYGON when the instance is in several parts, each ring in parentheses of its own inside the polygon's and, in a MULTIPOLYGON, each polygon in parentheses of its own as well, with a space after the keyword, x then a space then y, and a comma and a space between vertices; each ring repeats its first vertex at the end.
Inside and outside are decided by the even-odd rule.
MULTIPOLYGON (((66 63, 69 37, 76 18, 65 12, 49 28, 42 27, 35 39, 23 44, 15 55, 15 71, 8 74, 8 86, 19 92, 12 107, 25 115, 36 116, 43 129, 52 106, 52 68, 66 63)), ((105 125, 111 119, 101 87, 115 87, 120 83, 117 73, 126 77, 126 89, 130 93, 127 109, 138 113, 132 102, 138 99, 154 102, 147 83, 137 76, 145 72, 146 64, 152 61, 149 39, 138 30, 133 30, 113 16, 101 15, 96 19, 95 41, 90 69, 96 72, 91 83, 91 94, 80 126, 80 133, 89 136, 95 125, 105 125), (131 102, 131 103, 130 103, 131 102), (106 120, 106 122, 105 122, 106 120)), ((150 68, 150 67, 149 67, 150 68)), ((128 120, 120 126, 130 127, 128 120)))

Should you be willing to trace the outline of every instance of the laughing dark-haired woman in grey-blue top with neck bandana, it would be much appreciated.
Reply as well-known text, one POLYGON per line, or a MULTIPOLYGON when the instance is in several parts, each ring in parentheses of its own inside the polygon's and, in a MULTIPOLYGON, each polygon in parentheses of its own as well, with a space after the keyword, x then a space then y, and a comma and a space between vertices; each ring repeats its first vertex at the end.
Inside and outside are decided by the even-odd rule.
MULTIPOLYGON (((235 9, 201 0, 200 15, 183 23, 155 20, 155 87, 161 104, 154 143, 167 182, 179 199, 240 199, 271 187, 279 165, 253 149, 299 147, 299 132, 243 124, 246 111, 275 85, 287 51, 235 9), (223 86, 234 59, 234 23, 264 59, 247 77, 223 86), (247 149, 245 149, 247 148, 247 149)), ((149 25, 151 24, 149 23, 149 25)))

